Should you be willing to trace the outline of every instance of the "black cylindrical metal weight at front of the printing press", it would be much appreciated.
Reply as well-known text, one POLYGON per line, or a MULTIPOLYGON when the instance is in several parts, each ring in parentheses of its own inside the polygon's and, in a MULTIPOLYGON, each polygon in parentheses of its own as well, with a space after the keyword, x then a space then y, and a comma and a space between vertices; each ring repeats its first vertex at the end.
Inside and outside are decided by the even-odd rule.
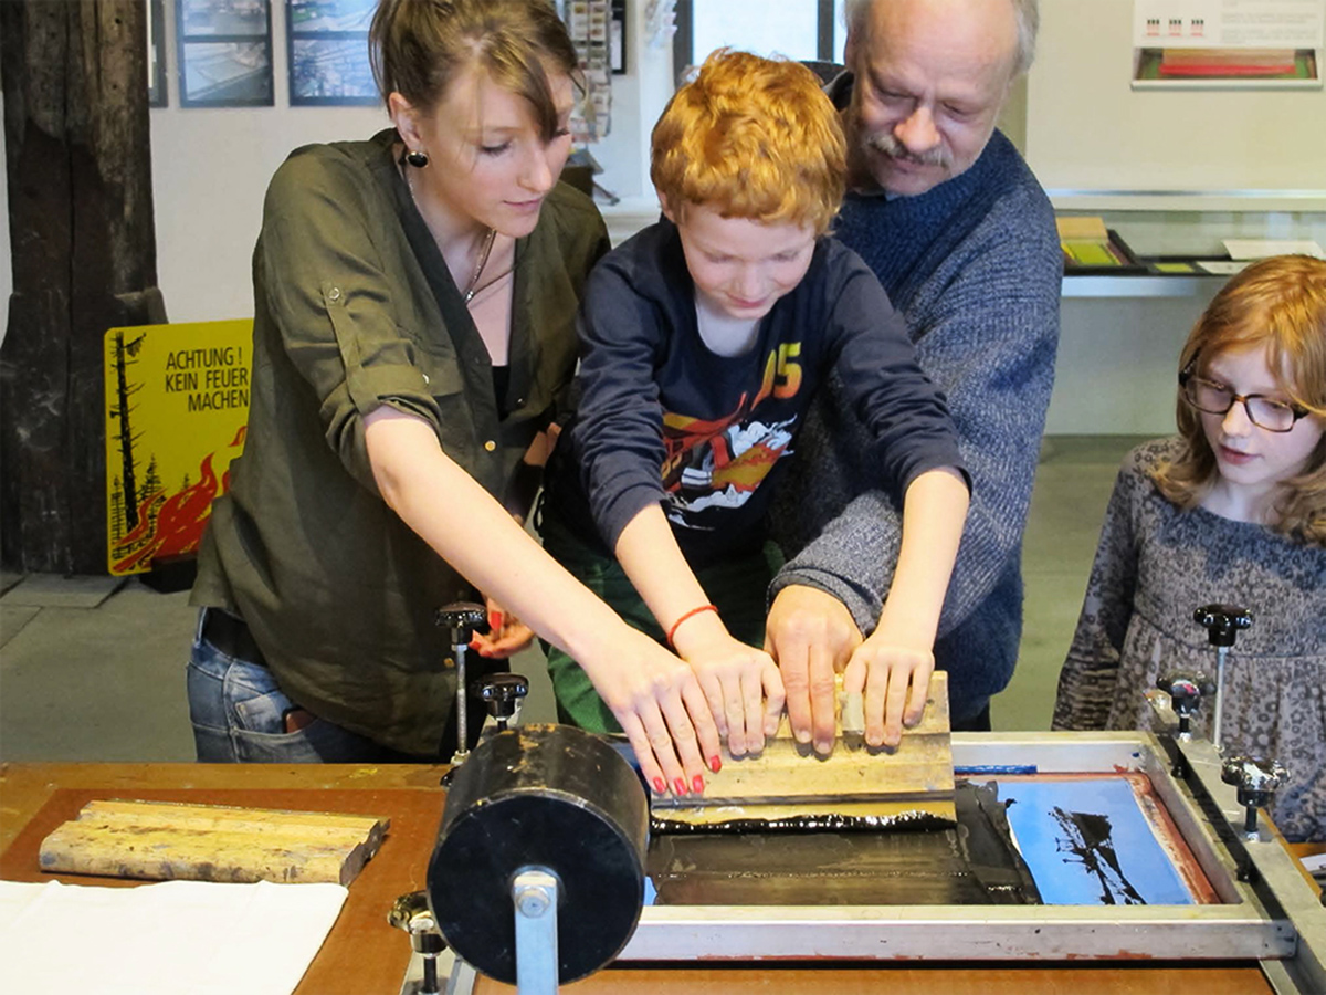
POLYGON ((644 898, 648 800, 615 750, 570 726, 489 736, 447 792, 428 864, 428 901, 456 955, 516 983, 514 876, 558 880, 558 982, 583 978, 626 946, 644 898))

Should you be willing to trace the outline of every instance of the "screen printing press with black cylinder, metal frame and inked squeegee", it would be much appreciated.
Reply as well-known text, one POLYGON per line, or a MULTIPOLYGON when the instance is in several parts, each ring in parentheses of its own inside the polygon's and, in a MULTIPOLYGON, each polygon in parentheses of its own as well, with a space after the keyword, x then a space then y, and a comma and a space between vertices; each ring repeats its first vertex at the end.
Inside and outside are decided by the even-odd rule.
POLYGON ((392 910, 415 950, 400 991, 553 992, 609 963, 1155 961, 1326 992, 1326 909, 1258 816, 1284 768, 1188 728, 1245 616, 1199 609, 1220 677, 1167 674, 1159 732, 949 734, 936 674, 896 751, 845 702, 830 758, 784 723, 758 758, 724 755, 701 804, 651 803, 625 742, 513 724, 524 682, 491 679, 427 889, 392 910))

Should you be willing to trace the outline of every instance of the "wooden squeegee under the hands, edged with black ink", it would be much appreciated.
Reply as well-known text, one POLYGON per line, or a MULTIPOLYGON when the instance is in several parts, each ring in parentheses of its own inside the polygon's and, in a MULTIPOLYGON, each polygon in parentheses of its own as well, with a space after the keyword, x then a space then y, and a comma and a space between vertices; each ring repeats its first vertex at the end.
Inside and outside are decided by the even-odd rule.
POLYGON ((896 750, 871 750, 842 732, 831 754, 797 743, 784 715, 758 756, 723 751, 723 768, 705 775, 704 795, 655 797, 655 815, 691 825, 745 820, 810 820, 843 816, 894 821, 907 813, 955 820, 953 750, 948 718, 948 674, 930 682, 926 712, 903 731, 896 750))

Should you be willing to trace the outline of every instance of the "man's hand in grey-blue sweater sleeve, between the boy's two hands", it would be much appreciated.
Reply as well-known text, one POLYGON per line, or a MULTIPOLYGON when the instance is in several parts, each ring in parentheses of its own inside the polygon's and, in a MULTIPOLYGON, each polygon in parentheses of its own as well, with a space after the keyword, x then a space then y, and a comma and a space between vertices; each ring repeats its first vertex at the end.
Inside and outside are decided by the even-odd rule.
POLYGON ((819 754, 834 743, 834 674, 861 642, 851 613, 833 594, 793 584, 773 600, 764 647, 782 671, 792 734, 798 743, 813 738, 819 754))

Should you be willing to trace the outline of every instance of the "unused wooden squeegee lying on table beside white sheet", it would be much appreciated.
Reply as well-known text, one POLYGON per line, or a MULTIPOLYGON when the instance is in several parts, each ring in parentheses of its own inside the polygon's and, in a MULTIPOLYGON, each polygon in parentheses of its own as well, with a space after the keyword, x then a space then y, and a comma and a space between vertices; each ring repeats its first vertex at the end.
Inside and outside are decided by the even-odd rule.
POLYGON ((390 820, 333 812, 90 801, 41 842, 49 873, 349 885, 390 820))

